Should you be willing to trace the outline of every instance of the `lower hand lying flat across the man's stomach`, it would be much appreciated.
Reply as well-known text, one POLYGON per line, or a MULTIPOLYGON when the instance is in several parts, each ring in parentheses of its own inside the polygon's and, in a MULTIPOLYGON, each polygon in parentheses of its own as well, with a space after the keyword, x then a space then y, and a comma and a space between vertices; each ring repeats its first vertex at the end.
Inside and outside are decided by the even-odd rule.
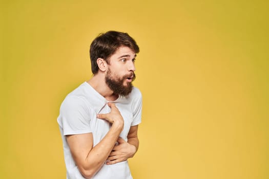
POLYGON ((116 164, 118 162, 126 161, 129 158, 132 158, 136 152, 136 147, 129 144, 122 138, 118 138, 118 145, 115 145, 108 157, 107 165, 116 164))

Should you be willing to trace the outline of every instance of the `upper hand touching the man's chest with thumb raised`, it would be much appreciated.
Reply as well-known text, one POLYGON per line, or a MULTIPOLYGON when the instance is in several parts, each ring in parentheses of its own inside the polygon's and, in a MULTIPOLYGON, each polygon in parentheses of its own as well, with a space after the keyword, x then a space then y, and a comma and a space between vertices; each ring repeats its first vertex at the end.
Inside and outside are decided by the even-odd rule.
POLYGON ((117 126, 123 128, 124 121, 116 105, 114 103, 108 103, 108 106, 111 107, 110 113, 98 114, 97 118, 105 119, 109 123, 116 124, 117 126))

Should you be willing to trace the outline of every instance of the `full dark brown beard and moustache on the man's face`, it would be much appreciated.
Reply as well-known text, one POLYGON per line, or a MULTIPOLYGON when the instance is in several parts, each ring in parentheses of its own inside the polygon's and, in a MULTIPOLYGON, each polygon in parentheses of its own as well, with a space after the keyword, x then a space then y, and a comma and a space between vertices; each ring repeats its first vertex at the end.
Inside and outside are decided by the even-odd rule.
POLYGON ((132 72, 131 74, 127 74, 122 78, 114 79, 113 74, 111 73, 110 69, 106 74, 106 83, 108 87, 115 93, 121 96, 127 96, 132 92, 133 84, 132 82, 128 82, 127 85, 123 85, 124 80, 126 78, 133 76, 132 81, 135 80, 135 74, 132 72))

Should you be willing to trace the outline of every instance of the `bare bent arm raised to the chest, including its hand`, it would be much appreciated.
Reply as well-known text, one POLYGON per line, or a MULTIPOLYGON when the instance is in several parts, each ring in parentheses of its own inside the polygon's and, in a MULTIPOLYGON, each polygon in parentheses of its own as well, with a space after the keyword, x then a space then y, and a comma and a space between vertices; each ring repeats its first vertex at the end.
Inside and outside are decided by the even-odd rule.
POLYGON ((115 104, 109 103, 111 112, 99 114, 99 119, 106 119, 112 123, 107 135, 93 147, 92 133, 66 136, 73 159, 80 171, 86 177, 91 178, 107 160, 120 132, 123 129, 123 119, 115 104))

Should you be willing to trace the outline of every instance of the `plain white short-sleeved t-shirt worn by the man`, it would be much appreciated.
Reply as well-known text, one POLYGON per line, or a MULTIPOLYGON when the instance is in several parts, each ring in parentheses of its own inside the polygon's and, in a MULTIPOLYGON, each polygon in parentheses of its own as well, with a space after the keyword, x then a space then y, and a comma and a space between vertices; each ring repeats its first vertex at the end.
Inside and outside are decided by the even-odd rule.
MULTIPOLYGON (((124 120, 124 127, 120 137, 127 141, 127 135, 131 126, 141 122, 142 96, 138 88, 133 87, 132 92, 126 96, 119 96, 113 101, 120 111, 124 120)), ((110 124, 106 120, 97 119, 97 114, 110 112, 108 101, 101 96, 87 82, 82 83, 73 92, 67 95, 60 106, 60 114, 57 118, 61 137, 64 144, 65 163, 67 168, 67 178, 84 178, 73 158, 66 140, 66 135, 76 135, 92 132, 93 146, 104 138, 110 129, 110 124)), ((94 179, 129 179, 132 178, 127 161, 117 164, 104 164, 94 175, 94 179)))

